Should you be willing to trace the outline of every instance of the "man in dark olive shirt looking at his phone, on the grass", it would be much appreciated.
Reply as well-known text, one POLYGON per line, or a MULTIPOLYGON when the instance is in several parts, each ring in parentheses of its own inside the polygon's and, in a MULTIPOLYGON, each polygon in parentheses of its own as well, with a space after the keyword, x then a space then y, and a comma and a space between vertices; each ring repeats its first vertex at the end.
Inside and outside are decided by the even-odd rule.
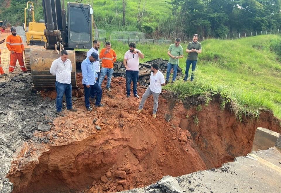
POLYGON ((193 81, 193 79, 194 79, 193 71, 195 70, 195 67, 196 67, 196 63, 198 60, 198 54, 200 54, 202 52, 201 43, 199 43, 197 40, 198 40, 198 34, 194 34, 192 42, 189 42, 187 45, 187 48, 186 48, 186 53, 188 53, 188 57, 186 60, 184 81, 188 80, 188 71, 189 71, 191 64, 192 64, 192 67, 191 67, 192 73, 191 73, 190 81, 193 81))

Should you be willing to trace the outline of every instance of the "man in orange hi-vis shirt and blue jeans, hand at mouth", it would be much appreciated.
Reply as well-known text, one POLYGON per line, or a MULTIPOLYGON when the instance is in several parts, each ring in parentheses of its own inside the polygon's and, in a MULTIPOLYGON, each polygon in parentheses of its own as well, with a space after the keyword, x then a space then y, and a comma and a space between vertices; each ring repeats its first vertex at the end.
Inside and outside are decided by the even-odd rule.
POLYGON ((107 85, 106 90, 111 91, 110 83, 111 76, 113 73, 113 62, 116 61, 117 55, 113 49, 111 49, 111 43, 109 41, 105 42, 105 48, 100 51, 100 59, 102 59, 102 69, 100 69, 100 80, 99 85, 102 85, 102 81, 107 75, 107 85))

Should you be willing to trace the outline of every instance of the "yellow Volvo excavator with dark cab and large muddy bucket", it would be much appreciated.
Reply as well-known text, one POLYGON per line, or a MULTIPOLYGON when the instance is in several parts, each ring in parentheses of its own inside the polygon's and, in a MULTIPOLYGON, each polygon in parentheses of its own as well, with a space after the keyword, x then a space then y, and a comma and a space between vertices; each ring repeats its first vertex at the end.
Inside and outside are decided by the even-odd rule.
POLYGON ((68 2, 65 9, 64 0, 42 0, 42 6, 44 23, 35 21, 32 2, 28 1, 25 8, 24 30, 30 45, 25 49, 25 64, 32 75, 33 89, 55 88, 56 78, 49 70, 63 49, 68 50, 73 68, 71 83, 75 88, 76 57, 81 61, 86 56, 85 52, 74 49, 92 48, 93 8, 88 4, 68 2))

